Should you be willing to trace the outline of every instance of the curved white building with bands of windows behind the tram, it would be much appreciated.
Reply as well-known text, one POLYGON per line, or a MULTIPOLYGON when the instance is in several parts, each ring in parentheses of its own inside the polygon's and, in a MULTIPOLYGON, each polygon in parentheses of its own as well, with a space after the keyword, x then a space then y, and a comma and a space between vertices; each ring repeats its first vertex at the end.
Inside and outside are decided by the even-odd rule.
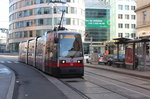
POLYGON ((9 43, 12 51, 18 51, 21 41, 41 36, 58 26, 62 10, 65 10, 63 26, 68 30, 85 33, 84 0, 10 0, 9 43), (60 3, 65 2, 65 3, 60 3))

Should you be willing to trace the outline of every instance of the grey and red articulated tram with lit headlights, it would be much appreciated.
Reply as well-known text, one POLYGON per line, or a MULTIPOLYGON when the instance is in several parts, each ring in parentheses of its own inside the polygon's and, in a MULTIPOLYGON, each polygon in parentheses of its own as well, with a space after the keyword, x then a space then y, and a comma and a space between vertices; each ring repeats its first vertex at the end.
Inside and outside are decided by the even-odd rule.
POLYGON ((48 31, 19 44, 19 61, 52 75, 84 75, 81 34, 48 31))

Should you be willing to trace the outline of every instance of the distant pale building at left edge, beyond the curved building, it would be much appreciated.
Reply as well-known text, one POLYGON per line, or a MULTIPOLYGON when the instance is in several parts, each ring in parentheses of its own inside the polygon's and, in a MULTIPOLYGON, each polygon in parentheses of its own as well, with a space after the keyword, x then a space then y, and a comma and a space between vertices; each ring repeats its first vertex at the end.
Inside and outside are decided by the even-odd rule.
POLYGON ((0 52, 6 52, 7 51, 7 35, 8 35, 8 29, 6 28, 0 28, 0 52))

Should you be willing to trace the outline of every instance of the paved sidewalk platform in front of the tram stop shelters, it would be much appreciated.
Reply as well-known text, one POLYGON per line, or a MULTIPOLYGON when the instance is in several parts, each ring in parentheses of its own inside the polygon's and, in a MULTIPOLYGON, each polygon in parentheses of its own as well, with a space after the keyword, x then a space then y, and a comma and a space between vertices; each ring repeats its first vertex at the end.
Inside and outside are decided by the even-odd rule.
POLYGON ((128 70, 124 68, 117 68, 117 67, 112 67, 107 65, 86 64, 86 63, 85 66, 150 79, 150 71, 128 70))

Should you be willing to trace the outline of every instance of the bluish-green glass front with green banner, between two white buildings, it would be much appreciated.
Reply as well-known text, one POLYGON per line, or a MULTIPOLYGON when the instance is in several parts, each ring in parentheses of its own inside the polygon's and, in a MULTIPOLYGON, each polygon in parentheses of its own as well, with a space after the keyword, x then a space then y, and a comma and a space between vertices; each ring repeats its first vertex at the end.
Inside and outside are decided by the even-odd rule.
POLYGON ((87 37, 85 38, 85 41, 90 41, 91 37, 92 41, 107 41, 110 39, 109 9, 86 9, 86 21, 87 19, 93 19, 96 22, 99 19, 100 22, 91 23, 92 25, 98 24, 99 27, 95 26, 91 28, 86 24, 87 37), (102 22, 103 20, 106 20, 106 22, 102 22), (107 26, 102 26, 104 24, 107 26))

